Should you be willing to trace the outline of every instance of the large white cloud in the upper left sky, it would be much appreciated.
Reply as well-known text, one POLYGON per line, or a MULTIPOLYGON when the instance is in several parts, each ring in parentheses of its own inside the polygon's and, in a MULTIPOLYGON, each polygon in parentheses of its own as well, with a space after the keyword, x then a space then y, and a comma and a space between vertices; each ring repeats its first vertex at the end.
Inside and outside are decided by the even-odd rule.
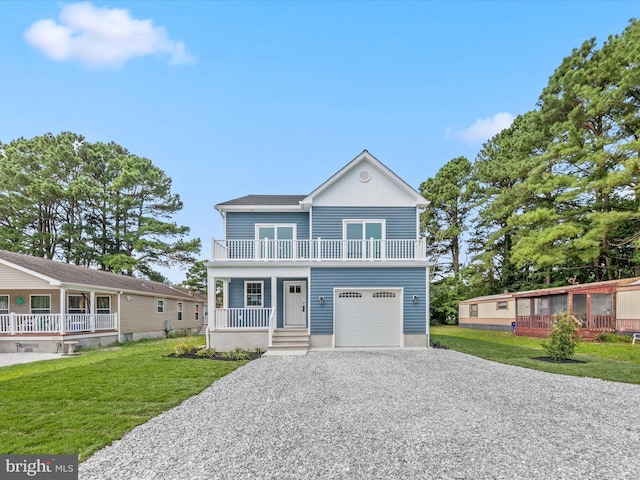
POLYGON ((79 60, 93 67, 117 67, 152 54, 170 55, 172 65, 195 62, 184 43, 169 38, 153 20, 136 20, 128 10, 98 8, 89 2, 64 7, 59 23, 35 22, 24 36, 53 60, 79 60))

